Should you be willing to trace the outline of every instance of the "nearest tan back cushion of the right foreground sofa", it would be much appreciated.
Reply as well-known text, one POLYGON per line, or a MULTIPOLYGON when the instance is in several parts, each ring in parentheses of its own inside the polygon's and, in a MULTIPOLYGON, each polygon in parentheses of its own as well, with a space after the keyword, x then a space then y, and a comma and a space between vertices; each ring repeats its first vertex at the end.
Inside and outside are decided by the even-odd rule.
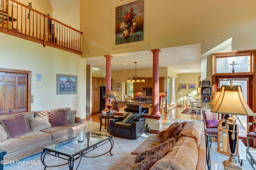
POLYGON ((197 162, 198 148, 196 142, 193 138, 182 137, 170 151, 150 169, 195 170, 197 162))

